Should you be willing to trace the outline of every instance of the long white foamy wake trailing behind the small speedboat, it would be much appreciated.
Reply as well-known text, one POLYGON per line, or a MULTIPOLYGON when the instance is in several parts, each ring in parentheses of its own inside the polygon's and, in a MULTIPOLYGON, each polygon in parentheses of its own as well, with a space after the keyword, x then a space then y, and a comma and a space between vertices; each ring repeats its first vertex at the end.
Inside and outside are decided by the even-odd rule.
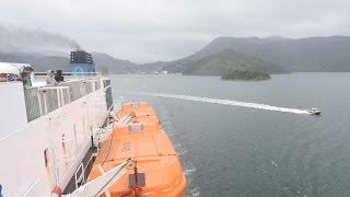
POLYGON ((176 99, 176 100, 187 100, 187 101, 196 101, 196 102, 205 102, 205 103, 213 103, 213 104, 221 104, 221 105, 234 105, 234 106, 243 106, 243 107, 258 108, 258 109, 265 109, 265 111, 293 113, 293 114, 310 114, 307 111, 298 109, 298 108, 287 108, 287 107, 271 106, 271 105, 265 105, 265 104, 259 104, 259 103, 238 102, 238 101, 232 101, 232 100, 218 100, 218 99, 210 99, 210 97, 179 95, 179 94, 165 94, 165 93, 152 93, 152 92, 129 92, 128 91, 126 93, 150 95, 150 96, 156 96, 156 97, 176 99))

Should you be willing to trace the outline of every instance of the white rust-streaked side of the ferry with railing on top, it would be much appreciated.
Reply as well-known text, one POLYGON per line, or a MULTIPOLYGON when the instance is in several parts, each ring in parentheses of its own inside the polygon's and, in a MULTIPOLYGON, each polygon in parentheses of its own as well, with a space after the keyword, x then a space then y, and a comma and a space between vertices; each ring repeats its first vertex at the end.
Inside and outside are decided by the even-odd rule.
POLYGON ((110 81, 60 86, 0 83, 0 185, 3 196, 49 196, 68 185, 113 108, 110 81))

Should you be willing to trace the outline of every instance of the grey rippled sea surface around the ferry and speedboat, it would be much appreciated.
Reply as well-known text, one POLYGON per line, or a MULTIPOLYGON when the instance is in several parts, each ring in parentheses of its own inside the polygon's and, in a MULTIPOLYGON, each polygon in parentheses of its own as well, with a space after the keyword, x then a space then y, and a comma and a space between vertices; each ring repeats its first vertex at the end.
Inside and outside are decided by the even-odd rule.
POLYGON ((276 74, 260 82, 171 74, 110 78, 116 105, 119 96, 147 101, 160 115, 180 154, 187 196, 350 196, 350 73, 276 74), (323 113, 313 116, 148 93, 318 107, 323 113))

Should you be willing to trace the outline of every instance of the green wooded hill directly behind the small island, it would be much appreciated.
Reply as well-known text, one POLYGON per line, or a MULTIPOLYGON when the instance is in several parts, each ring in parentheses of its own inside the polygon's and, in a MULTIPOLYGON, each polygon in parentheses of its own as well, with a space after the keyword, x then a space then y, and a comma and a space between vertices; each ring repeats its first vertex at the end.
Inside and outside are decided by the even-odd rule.
POLYGON ((222 76, 235 70, 254 70, 268 73, 284 72, 284 70, 276 63, 232 49, 224 49, 198 60, 186 59, 177 61, 176 65, 164 66, 162 69, 170 72, 182 72, 192 76, 222 76))

